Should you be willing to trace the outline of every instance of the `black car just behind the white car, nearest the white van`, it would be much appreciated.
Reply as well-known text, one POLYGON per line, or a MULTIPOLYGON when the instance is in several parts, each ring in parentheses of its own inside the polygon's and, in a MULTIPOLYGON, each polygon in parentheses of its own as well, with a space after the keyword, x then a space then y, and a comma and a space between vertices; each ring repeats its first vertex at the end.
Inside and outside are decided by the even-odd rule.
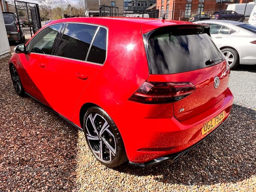
POLYGON ((235 21, 240 21, 243 22, 244 21, 244 15, 239 14, 235 11, 221 11, 220 12, 215 12, 214 14, 212 14, 211 19, 215 19, 215 20, 235 20, 235 21))

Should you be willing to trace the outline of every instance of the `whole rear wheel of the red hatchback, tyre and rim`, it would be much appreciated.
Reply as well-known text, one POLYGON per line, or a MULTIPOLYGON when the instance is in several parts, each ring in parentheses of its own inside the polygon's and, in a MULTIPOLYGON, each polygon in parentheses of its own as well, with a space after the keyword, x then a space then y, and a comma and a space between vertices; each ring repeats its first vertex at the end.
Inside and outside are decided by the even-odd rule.
POLYGON ((102 108, 91 107, 84 115, 84 136, 94 157, 113 168, 128 160, 116 124, 102 108))

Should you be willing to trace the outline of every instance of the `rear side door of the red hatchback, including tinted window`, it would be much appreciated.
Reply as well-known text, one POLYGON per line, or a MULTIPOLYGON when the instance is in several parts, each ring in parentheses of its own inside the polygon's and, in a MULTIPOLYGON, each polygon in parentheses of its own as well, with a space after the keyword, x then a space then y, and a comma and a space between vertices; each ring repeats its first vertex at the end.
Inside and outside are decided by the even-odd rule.
POLYGON ((106 37, 103 27, 69 23, 51 62, 42 68, 47 102, 67 119, 72 119, 81 93, 105 62, 106 37))

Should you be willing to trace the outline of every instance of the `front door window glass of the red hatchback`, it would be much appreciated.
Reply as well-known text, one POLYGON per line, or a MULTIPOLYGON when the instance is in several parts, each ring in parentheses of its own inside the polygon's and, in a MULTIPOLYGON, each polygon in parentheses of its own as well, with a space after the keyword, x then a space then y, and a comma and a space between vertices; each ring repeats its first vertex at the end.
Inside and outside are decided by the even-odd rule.
POLYGON ((52 25, 39 32, 27 45, 28 52, 36 52, 50 55, 53 43, 61 29, 62 24, 52 25))

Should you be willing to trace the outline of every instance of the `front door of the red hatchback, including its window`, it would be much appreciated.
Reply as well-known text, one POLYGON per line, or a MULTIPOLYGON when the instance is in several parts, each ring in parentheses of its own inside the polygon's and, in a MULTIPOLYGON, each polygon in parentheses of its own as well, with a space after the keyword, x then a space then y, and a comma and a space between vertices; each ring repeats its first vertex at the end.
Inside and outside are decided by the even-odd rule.
POLYGON ((43 92, 45 76, 42 69, 50 63, 53 45, 57 41, 61 26, 62 24, 56 24, 43 29, 26 45, 27 53, 19 54, 25 90, 49 107, 43 92))

